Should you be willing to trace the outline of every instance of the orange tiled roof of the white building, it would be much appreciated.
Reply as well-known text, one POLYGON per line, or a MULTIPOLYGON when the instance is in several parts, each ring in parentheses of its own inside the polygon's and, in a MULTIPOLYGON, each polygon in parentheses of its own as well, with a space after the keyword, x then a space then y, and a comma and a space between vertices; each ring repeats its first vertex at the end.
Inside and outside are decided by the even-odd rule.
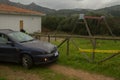
POLYGON ((2 14, 37 15, 37 16, 44 15, 43 13, 40 13, 37 11, 22 9, 22 8, 18 8, 18 7, 6 5, 6 4, 0 4, 0 13, 2 13, 2 14))

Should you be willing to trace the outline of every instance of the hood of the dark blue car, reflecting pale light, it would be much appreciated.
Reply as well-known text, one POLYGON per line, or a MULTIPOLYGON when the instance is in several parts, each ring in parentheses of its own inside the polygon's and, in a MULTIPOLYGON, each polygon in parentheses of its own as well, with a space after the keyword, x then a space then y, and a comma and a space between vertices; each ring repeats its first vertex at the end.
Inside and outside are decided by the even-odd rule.
POLYGON ((39 41, 39 40, 24 42, 22 44, 25 47, 32 48, 32 49, 37 49, 37 50, 44 50, 47 53, 51 53, 53 50, 56 49, 55 45, 53 45, 51 43, 48 43, 48 42, 39 41))

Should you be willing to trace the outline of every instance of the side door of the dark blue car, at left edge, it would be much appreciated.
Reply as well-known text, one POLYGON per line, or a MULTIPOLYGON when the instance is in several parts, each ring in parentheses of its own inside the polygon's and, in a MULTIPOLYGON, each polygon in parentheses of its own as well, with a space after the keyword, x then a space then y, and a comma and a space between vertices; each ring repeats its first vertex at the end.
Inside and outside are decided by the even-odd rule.
POLYGON ((16 62, 17 48, 12 45, 12 41, 4 35, 0 34, 0 60, 16 62))

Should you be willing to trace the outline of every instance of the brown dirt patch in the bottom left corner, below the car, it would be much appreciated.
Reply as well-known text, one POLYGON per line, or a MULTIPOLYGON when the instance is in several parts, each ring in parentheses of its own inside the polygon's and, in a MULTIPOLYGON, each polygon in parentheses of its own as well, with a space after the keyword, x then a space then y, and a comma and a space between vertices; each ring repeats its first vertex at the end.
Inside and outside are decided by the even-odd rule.
POLYGON ((7 80, 41 80, 39 76, 23 71, 13 71, 9 67, 0 65, 0 76, 5 76, 7 80))

